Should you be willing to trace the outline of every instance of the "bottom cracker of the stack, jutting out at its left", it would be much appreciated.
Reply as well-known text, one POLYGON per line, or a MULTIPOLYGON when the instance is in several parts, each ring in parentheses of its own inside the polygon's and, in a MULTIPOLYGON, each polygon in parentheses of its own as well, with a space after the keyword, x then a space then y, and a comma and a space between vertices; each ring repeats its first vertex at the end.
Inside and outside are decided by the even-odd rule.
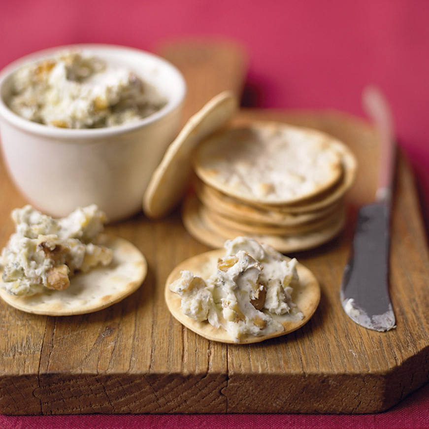
MULTIPOLYGON (((221 247, 225 240, 243 235, 241 231, 210 222, 197 198, 188 197, 182 210, 185 229, 198 241, 209 247, 221 247)), ((345 215, 339 214, 329 227, 307 234, 267 235, 250 234, 251 238, 266 243, 282 253, 300 252, 318 247, 335 237, 344 227, 345 215)))

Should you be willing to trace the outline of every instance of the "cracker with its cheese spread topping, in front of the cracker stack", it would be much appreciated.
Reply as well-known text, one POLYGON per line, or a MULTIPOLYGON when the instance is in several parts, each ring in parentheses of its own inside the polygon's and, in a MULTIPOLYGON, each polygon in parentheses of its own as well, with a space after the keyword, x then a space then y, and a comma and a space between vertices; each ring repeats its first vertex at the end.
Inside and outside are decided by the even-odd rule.
POLYGON ((272 247, 236 237, 179 264, 165 285, 171 314, 214 341, 253 343, 303 326, 320 300, 310 270, 272 247))

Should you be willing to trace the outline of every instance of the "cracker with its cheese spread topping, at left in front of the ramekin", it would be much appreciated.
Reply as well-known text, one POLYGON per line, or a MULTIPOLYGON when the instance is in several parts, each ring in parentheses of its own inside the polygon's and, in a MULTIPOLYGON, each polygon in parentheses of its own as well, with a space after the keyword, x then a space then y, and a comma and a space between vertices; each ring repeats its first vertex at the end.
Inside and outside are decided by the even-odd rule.
POLYGON ((102 235, 96 205, 53 219, 27 205, 12 211, 15 232, 0 256, 0 296, 23 311, 70 315, 96 311, 136 290, 146 275, 141 252, 102 235))

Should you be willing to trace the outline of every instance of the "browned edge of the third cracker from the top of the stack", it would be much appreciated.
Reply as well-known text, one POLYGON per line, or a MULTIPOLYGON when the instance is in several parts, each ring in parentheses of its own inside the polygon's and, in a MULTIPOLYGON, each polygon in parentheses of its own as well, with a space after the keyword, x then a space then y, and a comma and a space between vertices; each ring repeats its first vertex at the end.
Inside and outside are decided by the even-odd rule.
POLYGON ((288 213, 286 210, 278 209, 278 207, 257 207, 240 202, 210 188, 200 180, 195 181, 194 189, 198 199, 205 207, 223 217, 242 223, 266 224, 277 227, 293 227, 314 222, 328 216, 343 205, 340 200, 315 211, 288 213))

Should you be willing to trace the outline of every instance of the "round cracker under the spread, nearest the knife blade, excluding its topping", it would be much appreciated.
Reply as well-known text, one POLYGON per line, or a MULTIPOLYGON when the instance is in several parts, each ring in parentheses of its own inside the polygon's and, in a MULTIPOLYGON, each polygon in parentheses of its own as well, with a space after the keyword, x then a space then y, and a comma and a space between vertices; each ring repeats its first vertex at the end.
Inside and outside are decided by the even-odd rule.
MULTIPOLYGON (((215 328, 207 321, 198 322, 186 316, 180 308, 181 297, 171 292, 169 289, 169 285, 180 278, 180 272, 182 270, 189 270, 196 276, 208 278, 216 270, 218 258, 222 258, 224 255, 225 249, 216 249, 194 256, 177 265, 170 273, 165 283, 165 302, 174 318, 182 325, 198 333, 198 335, 212 341, 237 344, 223 328, 215 328)), ((284 256, 284 259, 290 261, 290 258, 286 256, 284 256)), ((297 311, 302 312, 304 317, 298 320, 295 314, 282 316, 281 324, 284 328, 283 331, 260 336, 245 335, 240 338, 238 344, 257 343, 268 338, 285 335, 301 328, 309 321, 319 305, 320 286, 314 274, 304 265, 297 264, 297 273, 299 281, 293 284, 292 300, 297 304, 297 311)), ((276 317, 276 320, 280 321, 278 317, 276 317)))

